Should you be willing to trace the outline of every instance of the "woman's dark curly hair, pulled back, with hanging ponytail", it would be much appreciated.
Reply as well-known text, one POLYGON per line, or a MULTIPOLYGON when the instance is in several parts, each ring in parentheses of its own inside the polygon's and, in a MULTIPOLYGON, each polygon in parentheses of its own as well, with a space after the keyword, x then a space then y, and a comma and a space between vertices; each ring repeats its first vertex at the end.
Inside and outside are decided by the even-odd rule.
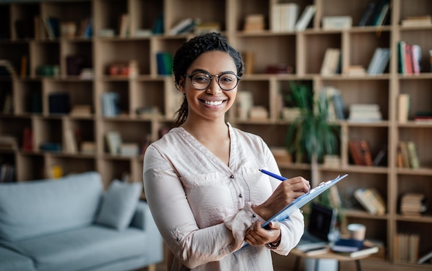
MULTIPOLYGON (((242 76, 244 73, 244 63, 242 56, 237 50, 228 44, 225 36, 219 33, 208 33, 200 36, 195 36, 193 39, 186 41, 175 53, 173 58, 173 74, 175 78, 175 86, 178 89, 179 81, 186 74, 188 67, 201 54, 210 51, 222 51, 228 53, 235 63, 237 75, 242 76)), ((188 118, 188 101, 186 96, 177 113, 177 124, 181 125, 188 118)))

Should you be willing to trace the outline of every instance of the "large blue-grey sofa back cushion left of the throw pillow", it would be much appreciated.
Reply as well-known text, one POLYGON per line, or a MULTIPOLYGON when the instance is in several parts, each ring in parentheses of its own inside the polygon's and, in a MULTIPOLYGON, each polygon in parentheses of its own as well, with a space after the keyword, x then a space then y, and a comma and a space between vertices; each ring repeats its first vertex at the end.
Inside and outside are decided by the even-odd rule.
POLYGON ((103 193, 99 173, 0 185, 0 240, 17 241, 95 221, 103 193))

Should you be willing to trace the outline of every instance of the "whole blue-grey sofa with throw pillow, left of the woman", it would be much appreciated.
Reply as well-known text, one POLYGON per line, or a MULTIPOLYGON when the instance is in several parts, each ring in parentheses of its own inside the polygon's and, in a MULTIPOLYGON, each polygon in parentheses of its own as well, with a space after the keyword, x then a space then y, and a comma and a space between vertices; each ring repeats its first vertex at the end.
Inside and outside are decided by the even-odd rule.
POLYGON ((140 183, 99 173, 0 184, 0 270, 137 270, 163 260, 140 183))

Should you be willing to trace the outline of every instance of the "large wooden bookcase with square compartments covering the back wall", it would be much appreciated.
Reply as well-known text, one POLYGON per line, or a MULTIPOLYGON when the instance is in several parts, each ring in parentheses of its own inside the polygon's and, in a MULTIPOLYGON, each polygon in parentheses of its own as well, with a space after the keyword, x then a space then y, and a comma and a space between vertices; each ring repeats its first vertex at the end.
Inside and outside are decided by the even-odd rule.
MULTIPOLYGON (((4 2, 4 1, 3 1, 4 2)), ((432 49, 432 28, 402 28, 401 19, 409 16, 432 14, 429 0, 391 1, 390 24, 377 27, 357 27, 369 0, 292 0, 300 7, 300 14, 308 4, 317 7, 313 20, 303 32, 272 32, 269 21, 273 16, 272 6, 277 0, 225 0, 225 1, 177 1, 177 0, 69 0, 69 1, 10 1, 0 4, 0 59, 12 63, 21 74, 21 58, 28 57, 28 71, 24 76, 0 78, 0 91, 12 96, 12 111, 0 113, 0 134, 23 141, 23 130, 32 129, 32 149, 0 150, 0 162, 13 164, 18 182, 47 177, 51 166, 59 165, 64 174, 99 171, 106 186, 124 173, 130 174, 132 182, 141 182, 143 156, 120 156, 108 154, 105 135, 118 131, 124 142, 142 144, 149 138, 159 138, 161 129, 173 127, 173 116, 177 110, 178 91, 171 76, 159 76, 157 52, 175 54, 177 47, 193 34, 168 36, 153 34, 134 36, 139 29, 152 29, 155 21, 164 14, 164 32, 181 19, 199 17, 204 22, 217 21, 222 33, 241 52, 253 52, 253 73, 245 74, 239 90, 251 91, 255 105, 268 111, 266 120, 239 120, 235 110, 228 120, 235 127, 261 135, 271 147, 284 147, 288 122, 281 120, 281 91, 289 89, 288 82, 297 80, 313 88, 333 86, 340 89, 346 109, 355 102, 377 103, 383 120, 380 122, 349 122, 338 120, 340 125, 340 166, 319 166, 320 178, 328 180, 335 175, 348 173, 349 177, 338 184, 346 204, 348 222, 367 226, 366 237, 380 239, 386 245, 384 261, 369 260, 368 266, 397 266, 422 268, 410 263, 397 263, 393 259, 397 232, 412 232, 420 235, 420 254, 432 250, 428 241, 432 226, 432 137, 431 124, 413 121, 415 111, 432 111, 432 73, 429 50, 432 49), (128 14, 130 35, 117 36, 119 18, 128 14), (249 14, 264 14, 265 29, 262 32, 243 32, 244 20, 249 14), (90 38, 48 39, 43 25, 39 38, 22 37, 17 34, 15 22, 27 19, 30 28, 32 18, 39 16, 59 17, 61 21, 83 21, 92 19, 93 35, 90 38), (350 16, 353 27, 348 30, 323 30, 322 18, 326 16, 350 16), (28 20, 30 19, 30 21, 28 20), (98 36, 99 30, 113 28, 113 37, 98 36), (422 47, 422 72, 418 76, 403 76, 397 70, 397 42, 404 40, 422 47), (342 74, 321 76, 320 68, 326 48, 339 48, 342 52, 342 74), (391 58, 384 74, 380 76, 347 76, 351 65, 366 67, 376 47, 389 47, 391 58), (91 67, 92 78, 68 76, 66 58, 80 54, 85 67, 91 67), (136 77, 108 76, 108 65, 137 61, 139 74, 136 77), (288 63, 294 67, 293 74, 266 74, 268 65, 288 63), (41 65, 56 65, 58 76, 39 76, 41 65), (107 91, 119 96, 121 115, 107 118, 102 113, 101 97, 107 91), (66 92, 71 105, 88 105, 92 113, 88 116, 49 113, 50 94, 66 92), (397 96, 410 94, 409 121, 397 121, 397 96), (41 111, 35 113, 35 100, 41 100, 41 111), (157 107, 160 112, 153 116, 137 116, 140 107, 157 107), (84 141, 95 142, 95 153, 68 153, 66 151, 41 151, 43 142, 57 142, 65 147, 68 130, 79 129, 84 141), (348 140, 365 139, 376 155, 384 144, 389 147, 386 166, 355 166, 348 155, 348 140), (420 169, 401 169, 396 165, 397 142, 413 140, 418 147, 420 169), (386 201, 385 215, 369 215, 356 208, 353 191, 356 188, 375 187, 386 201), (421 217, 404 217, 399 212, 400 197, 406 192, 426 193, 428 211, 421 217), (350 205, 351 204, 351 205, 350 205), (375 265, 374 265, 375 264, 375 265)), ((285 1, 280 1, 285 2, 285 1)), ((311 177, 308 164, 279 162, 286 176, 311 177)), ((431 265, 429 265, 430 267, 431 265)))

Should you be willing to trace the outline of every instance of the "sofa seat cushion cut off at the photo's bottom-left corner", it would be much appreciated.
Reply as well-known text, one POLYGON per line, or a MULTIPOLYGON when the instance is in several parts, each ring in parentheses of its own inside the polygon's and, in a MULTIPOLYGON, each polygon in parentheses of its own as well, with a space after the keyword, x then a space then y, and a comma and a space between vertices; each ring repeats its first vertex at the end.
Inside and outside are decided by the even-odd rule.
POLYGON ((30 271, 35 265, 30 258, 0 246, 0 270, 30 271))

